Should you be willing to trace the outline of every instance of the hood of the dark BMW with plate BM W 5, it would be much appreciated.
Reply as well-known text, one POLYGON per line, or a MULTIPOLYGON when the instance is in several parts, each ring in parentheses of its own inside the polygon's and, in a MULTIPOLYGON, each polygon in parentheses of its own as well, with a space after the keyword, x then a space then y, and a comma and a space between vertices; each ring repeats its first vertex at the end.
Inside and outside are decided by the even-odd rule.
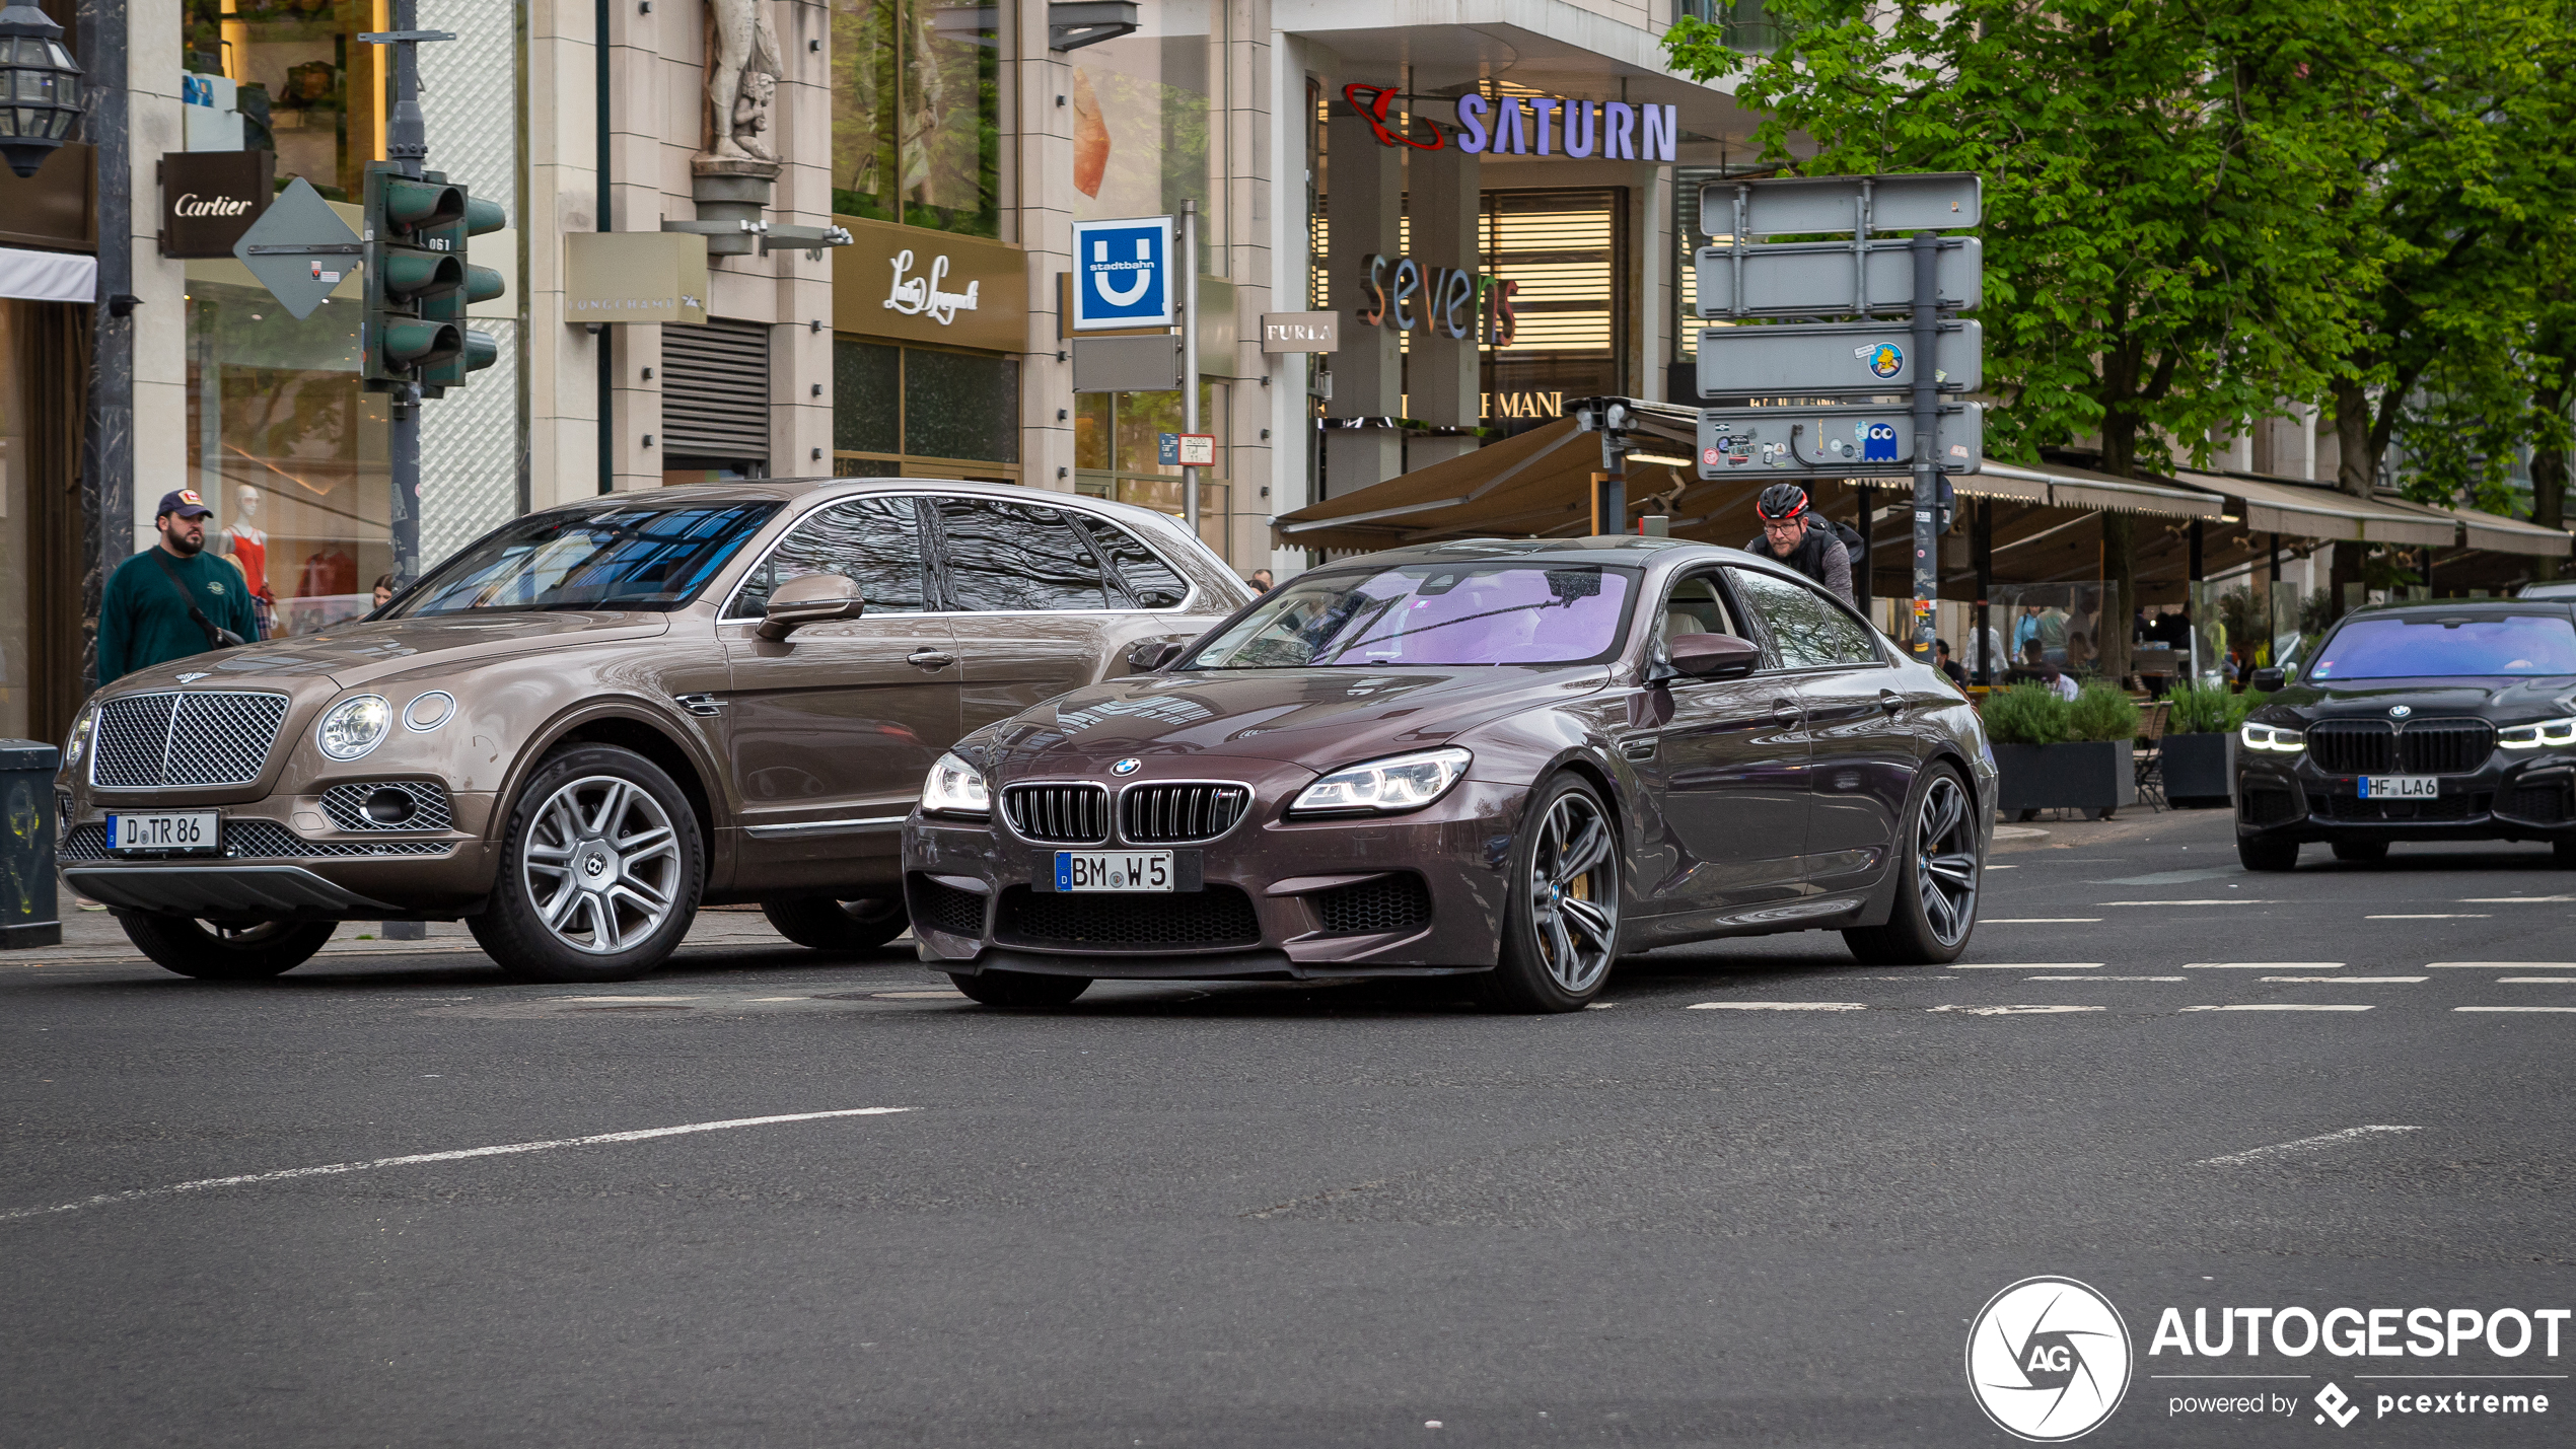
POLYGON ((1048 700, 976 734, 997 777, 1097 772, 1128 754, 1208 770, 1270 759, 1332 770, 1445 744, 1484 721, 1607 685, 1600 667, 1551 669, 1242 669, 1113 679, 1048 700))

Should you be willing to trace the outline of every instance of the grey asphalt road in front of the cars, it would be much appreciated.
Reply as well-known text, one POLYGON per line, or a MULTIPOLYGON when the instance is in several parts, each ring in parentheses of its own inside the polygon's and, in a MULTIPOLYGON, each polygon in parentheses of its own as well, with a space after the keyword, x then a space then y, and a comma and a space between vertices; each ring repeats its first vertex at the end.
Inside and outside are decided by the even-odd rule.
POLYGON ((2045 829, 1973 968, 1723 942, 1553 1019, 1010 1017, 757 932, 616 988, 438 942, 260 986, 0 957, 0 1441, 2012 1444, 1968 1320, 2063 1274, 2133 1338, 2089 1444, 2563 1444, 2576 1323, 2558 1356, 2151 1336, 2576 1305, 2576 872, 2045 829), (384 1161, 495 1145, 531 1148, 384 1161), (2380 1413, 2409 1390, 2450 1416, 2380 1413))

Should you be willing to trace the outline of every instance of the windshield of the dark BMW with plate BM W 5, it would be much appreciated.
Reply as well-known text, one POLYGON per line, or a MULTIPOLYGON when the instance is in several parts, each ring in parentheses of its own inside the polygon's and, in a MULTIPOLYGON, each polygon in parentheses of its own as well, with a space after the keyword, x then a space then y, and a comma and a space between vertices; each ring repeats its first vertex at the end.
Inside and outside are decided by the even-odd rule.
POLYGON ((1406 564, 1306 574, 1185 669, 1589 664, 1618 649, 1636 571, 1597 564, 1406 564))

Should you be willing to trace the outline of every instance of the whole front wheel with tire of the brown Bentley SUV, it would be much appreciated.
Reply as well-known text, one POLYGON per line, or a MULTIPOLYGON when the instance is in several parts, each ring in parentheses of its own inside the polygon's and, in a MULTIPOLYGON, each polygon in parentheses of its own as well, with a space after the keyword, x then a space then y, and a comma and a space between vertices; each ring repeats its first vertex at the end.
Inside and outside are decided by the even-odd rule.
POLYGON ((577 744, 538 764, 510 811, 474 939, 520 981, 634 981, 698 916, 698 816, 659 764, 577 744))

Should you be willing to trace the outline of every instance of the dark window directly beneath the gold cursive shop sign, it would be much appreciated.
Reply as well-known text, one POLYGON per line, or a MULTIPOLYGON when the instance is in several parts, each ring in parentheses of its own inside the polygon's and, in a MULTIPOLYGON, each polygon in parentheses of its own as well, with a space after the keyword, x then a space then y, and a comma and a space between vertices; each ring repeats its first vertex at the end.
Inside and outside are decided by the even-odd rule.
POLYGON ((1020 481, 1020 363, 835 340, 832 458, 845 479, 1020 481))

